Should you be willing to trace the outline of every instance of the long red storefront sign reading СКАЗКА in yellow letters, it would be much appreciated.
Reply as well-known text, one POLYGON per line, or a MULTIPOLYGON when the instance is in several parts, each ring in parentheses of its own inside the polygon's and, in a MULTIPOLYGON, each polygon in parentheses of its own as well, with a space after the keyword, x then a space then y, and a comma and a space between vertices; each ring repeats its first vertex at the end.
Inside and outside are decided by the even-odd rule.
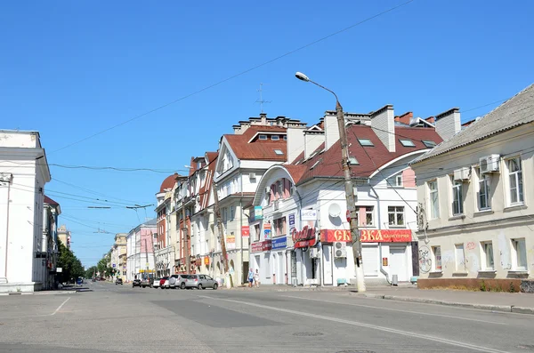
MULTIPOLYGON (((322 243, 352 242, 351 231, 348 229, 321 229, 322 243)), ((412 241, 411 229, 362 229, 362 243, 405 243, 412 241)))

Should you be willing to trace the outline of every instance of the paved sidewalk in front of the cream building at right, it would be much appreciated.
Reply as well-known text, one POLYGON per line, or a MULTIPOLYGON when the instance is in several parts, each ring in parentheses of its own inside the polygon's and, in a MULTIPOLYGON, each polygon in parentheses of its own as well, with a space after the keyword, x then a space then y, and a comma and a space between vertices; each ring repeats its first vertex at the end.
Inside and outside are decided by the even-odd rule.
POLYGON ((368 287, 352 295, 392 301, 412 301, 534 315, 534 295, 529 293, 469 292, 417 289, 416 285, 368 287))

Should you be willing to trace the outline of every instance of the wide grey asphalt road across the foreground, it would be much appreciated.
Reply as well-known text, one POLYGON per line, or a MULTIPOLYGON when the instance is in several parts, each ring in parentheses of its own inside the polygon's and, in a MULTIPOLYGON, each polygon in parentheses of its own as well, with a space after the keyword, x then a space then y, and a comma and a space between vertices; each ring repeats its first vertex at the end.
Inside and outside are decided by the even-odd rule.
POLYGON ((0 352, 528 352, 534 317, 344 292, 92 291, 0 297, 0 352))

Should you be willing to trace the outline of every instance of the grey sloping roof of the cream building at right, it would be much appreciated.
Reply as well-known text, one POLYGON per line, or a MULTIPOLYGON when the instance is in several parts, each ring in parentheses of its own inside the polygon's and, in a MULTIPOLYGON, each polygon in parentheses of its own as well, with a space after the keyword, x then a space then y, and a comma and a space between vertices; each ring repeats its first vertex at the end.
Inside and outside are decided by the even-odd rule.
POLYGON ((522 92, 506 100, 489 114, 482 116, 464 130, 458 132, 449 140, 442 142, 424 156, 420 156, 414 163, 418 163, 432 156, 439 156, 453 149, 461 148, 478 140, 486 139, 499 132, 514 129, 522 124, 534 121, 534 84, 530 84, 522 92))

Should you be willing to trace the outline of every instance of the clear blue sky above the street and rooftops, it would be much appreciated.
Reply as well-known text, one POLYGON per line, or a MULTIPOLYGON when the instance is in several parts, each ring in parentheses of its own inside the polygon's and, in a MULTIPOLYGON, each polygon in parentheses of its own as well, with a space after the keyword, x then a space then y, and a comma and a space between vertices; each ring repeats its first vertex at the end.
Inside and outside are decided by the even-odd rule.
MULTIPOLYGON (((51 164, 180 172, 190 156, 216 150, 232 124, 259 114, 260 83, 263 98, 272 101, 264 108, 269 116, 315 123, 335 108, 327 92, 296 80, 297 70, 335 90, 347 111, 391 103, 397 114, 411 110, 423 117, 506 99, 533 82, 533 1, 415 0, 53 153, 403 2, 3 3, 0 128, 39 131, 51 164)), ((73 249, 85 266, 113 243, 113 234, 96 229, 128 232, 138 217, 125 208, 87 209, 94 204, 51 190, 146 205, 156 202, 167 176, 57 166, 51 171, 57 181, 45 189, 70 217, 61 223, 72 230, 73 249)), ((147 215, 154 216, 153 207, 147 215)), ((144 220, 144 211, 139 217, 144 220)))

